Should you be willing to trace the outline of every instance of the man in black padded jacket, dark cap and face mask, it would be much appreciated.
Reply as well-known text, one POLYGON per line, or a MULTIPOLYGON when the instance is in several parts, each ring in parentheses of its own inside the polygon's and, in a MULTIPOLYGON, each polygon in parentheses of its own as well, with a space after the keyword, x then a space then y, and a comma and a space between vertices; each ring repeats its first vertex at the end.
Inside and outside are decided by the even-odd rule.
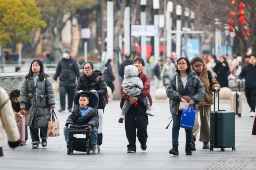
POLYGON ((76 77, 80 77, 78 64, 70 55, 70 49, 65 49, 63 58, 58 62, 54 81, 59 77, 59 97, 60 97, 60 110, 63 112, 66 105, 66 93, 68 94, 68 110, 72 112, 74 89, 76 87, 76 77))

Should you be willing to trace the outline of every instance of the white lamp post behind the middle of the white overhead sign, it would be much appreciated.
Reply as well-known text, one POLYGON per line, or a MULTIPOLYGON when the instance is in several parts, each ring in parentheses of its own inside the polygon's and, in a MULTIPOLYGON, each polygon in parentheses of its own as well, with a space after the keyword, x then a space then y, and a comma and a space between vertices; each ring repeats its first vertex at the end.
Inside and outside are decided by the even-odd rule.
MULTIPOLYGON (((147 5, 147 0, 141 0, 140 2, 141 5, 141 25, 145 26, 146 23, 146 5, 147 5)), ((145 36, 141 37, 141 58, 143 58, 143 60, 147 61, 147 40, 145 36)), ((146 62, 147 63, 147 62, 146 62)))

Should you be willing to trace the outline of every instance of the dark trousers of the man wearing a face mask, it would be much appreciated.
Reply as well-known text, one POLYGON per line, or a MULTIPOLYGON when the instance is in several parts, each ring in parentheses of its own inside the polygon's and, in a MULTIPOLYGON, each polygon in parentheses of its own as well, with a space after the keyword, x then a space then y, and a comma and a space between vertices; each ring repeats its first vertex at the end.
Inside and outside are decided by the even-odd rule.
POLYGON ((66 107, 66 93, 68 94, 68 109, 72 109, 74 100, 75 87, 59 86, 60 106, 65 109, 66 107))

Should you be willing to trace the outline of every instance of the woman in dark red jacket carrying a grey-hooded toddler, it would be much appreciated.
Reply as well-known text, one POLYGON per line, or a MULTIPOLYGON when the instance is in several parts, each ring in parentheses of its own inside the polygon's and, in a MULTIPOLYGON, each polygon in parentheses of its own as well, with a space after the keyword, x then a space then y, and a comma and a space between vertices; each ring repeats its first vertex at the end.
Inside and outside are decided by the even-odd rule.
POLYGON ((141 144, 141 149, 147 149, 147 126, 148 126, 148 115, 145 114, 147 108, 144 106, 143 102, 140 99, 148 97, 150 106, 152 105, 152 98, 149 94, 150 91, 150 79, 145 73, 143 73, 142 69, 145 67, 145 62, 142 58, 135 58, 133 62, 133 66, 135 66, 139 71, 139 78, 143 82, 143 89, 141 93, 137 96, 130 97, 124 93, 124 90, 121 85, 121 102, 120 107, 123 108, 124 101, 130 101, 130 108, 128 109, 127 113, 125 114, 125 131, 126 137, 128 139, 129 144, 127 145, 127 152, 128 153, 135 153, 136 152, 136 128, 137 128, 137 137, 141 144))

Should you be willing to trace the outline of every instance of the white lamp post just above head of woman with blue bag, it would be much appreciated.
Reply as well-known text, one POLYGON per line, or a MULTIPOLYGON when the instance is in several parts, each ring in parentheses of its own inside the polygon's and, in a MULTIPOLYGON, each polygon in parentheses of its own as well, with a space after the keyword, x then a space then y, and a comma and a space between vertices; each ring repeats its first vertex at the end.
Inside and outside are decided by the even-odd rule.
POLYGON ((177 29, 177 38, 176 38, 176 54, 177 57, 180 58, 180 51, 181 51, 181 14, 182 14, 182 10, 181 10, 181 6, 177 5, 176 6, 176 15, 177 15, 177 21, 176 21, 176 29, 177 29))

